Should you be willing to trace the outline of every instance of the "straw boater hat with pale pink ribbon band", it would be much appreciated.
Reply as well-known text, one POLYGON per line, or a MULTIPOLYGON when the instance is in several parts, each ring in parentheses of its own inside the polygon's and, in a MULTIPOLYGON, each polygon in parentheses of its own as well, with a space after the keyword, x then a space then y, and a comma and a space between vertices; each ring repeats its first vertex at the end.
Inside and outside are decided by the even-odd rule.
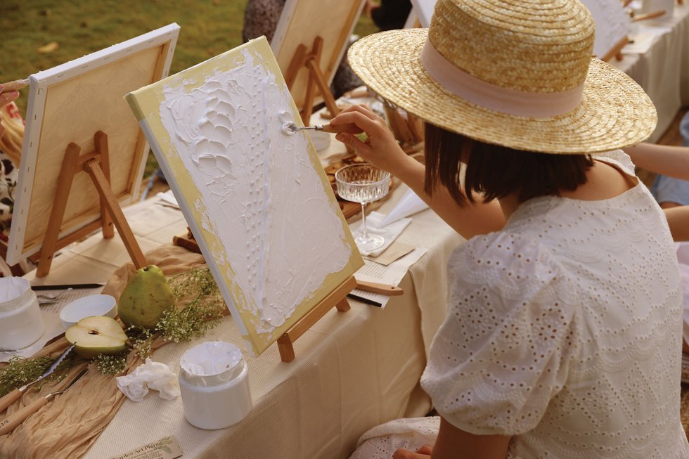
POLYGON ((349 64, 380 96, 432 124, 543 153, 634 145, 657 122, 623 72, 591 58, 577 0, 438 0, 430 29, 356 41, 349 64))

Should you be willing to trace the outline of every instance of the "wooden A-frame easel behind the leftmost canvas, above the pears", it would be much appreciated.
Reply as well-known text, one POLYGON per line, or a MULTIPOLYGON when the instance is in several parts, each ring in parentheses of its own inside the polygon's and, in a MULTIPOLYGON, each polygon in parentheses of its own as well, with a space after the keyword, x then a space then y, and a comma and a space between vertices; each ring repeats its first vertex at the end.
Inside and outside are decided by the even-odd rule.
POLYGON ((58 188, 55 192, 46 236, 41 247, 37 277, 44 277, 49 273, 53 255, 57 250, 84 238, 98 227, 103 228, 103 238, 112 238, 115 235, 115 228, 112 228, 113 223, 115 223, 124 242, 124 247, 127 248, 129 257, 134 262, 136 269, 147 265, 141 247, 136 243, 134 233, 131 232, 127 219, 124 218, 124 213, 122 213, 120 204, 117 202, 117 197, 110 187, 108 135, 103 131, 96 132, 94 145, 95 150, 93 152, 82 156, 79 156, 82 148, 76 143, 70 143, 65 150, 65 158, 58 176, 58 188), (79 172, 87 172, 91 176, 91 181, 94 182, 98 194, 101 195, 101 218, 60 239, 60 226, 65 217, 67 199, 70 197, 70 189, 75 175, 79 172))

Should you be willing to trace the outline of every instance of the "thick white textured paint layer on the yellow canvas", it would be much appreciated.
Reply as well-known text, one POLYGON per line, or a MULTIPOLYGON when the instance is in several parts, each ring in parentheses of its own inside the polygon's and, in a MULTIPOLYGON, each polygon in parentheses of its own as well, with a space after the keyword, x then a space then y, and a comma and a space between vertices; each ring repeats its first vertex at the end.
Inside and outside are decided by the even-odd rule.
POLYGON ((262 333, 342 271, 351 248, 307 135, 283 132, 289 93, 260 56, 242 53, 243 63, 204 82, 164 86, 160 118, 200 192, 192 207, 202 228, 220 241, 213 257, 245 297, 236 306, 262 333))

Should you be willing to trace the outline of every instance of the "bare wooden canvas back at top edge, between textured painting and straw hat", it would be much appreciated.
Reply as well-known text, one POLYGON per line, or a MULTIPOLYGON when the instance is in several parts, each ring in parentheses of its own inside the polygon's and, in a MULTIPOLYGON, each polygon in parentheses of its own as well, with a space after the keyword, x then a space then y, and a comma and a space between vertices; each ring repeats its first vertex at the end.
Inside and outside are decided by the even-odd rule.
MULTIPOLYGON (((271 41, 271 49, 283 75, 288 75, 299 46, 311 50, 314 41, 321 37, 323 47, 318 68, 328 86, 332 84, 364 4, 365 0, 287 0, 271 41)), ((304 67, 290 86, 290 93, 300 111, 304 110, 308 91, 309 70, 304 67)))

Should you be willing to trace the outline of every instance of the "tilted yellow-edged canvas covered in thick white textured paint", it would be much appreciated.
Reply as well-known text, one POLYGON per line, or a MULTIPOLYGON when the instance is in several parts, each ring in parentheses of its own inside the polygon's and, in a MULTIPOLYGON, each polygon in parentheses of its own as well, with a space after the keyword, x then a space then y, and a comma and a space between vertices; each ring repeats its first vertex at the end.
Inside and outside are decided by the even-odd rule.
POLYGON ((127 101, 252 354, 363 265, 265 37, 127 101))

